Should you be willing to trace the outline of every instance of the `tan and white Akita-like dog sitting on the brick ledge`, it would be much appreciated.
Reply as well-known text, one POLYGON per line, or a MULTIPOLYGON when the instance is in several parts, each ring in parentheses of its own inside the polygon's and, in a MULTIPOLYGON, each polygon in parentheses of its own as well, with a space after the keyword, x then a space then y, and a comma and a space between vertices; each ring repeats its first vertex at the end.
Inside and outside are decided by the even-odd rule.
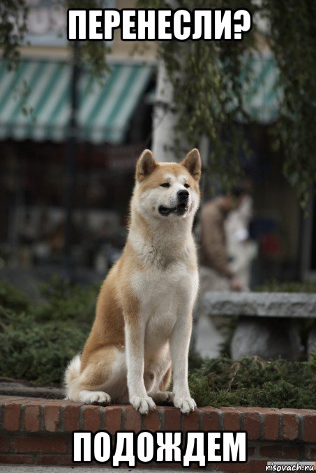
POLYGON ((84 350, 66 369, 68 399, 129 402, 141 414, 156 403, 195 410, 188 350, 199 284, 193 218, 200 176, 197 149, 181 164, 157 162, 150 150, 137 161, 126 245, 100 289, 84 350))

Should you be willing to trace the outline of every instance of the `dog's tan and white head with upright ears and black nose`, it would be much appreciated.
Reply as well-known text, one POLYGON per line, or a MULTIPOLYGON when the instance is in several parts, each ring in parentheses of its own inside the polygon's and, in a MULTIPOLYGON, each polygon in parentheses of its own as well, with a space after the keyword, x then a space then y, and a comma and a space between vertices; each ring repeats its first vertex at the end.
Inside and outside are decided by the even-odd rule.
POLYGON ((137 210, 145 217, 185 219, 200 203, 201 158, 197 149, 178 163, 156 162, 144 150, 136 165, 134 196, 137 210))

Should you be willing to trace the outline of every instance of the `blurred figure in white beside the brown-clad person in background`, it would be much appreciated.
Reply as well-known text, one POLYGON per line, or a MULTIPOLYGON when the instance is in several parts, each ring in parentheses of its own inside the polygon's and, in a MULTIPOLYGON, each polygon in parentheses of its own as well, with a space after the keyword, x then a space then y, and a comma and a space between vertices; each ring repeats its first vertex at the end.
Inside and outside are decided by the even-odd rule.
POLYGON ((251 262, 256 256, 257 245, 250 240, 249 224, 253 218, 253 199, 242 196, 239 207, 232 210, 225 222, 229 267, 242 290, 250 288, 251 262))

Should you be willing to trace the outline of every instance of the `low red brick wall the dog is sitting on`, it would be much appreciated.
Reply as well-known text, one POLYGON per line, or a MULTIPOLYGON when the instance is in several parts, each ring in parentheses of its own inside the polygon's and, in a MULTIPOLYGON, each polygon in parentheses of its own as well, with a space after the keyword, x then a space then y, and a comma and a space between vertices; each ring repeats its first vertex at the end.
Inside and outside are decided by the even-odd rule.
MULTIPOLYGON (((248 462, 209 464, 223 472, 264 472, 268 460, 316 460, 316 411, 200 408, 189 415, 158 407, 141 416, 130 405, 107 408, 70 401, 0 396, 0 463, 72 465, 76 430, 248 432, 248 462)), ((171 466, 171 465, 168 465, 171 466)), ((173 465, 174 466, 174 465, 173 465)), ((193 465, 196 467, 196 465, 193 465)))

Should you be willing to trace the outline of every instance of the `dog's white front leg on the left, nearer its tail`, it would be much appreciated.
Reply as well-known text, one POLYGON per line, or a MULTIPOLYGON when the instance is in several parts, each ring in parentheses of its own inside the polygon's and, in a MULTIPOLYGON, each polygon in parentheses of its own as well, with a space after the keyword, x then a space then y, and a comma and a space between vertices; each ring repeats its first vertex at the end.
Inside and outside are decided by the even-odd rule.
MULTIPOLYGON (((144 325, 144 324, 143 324, 144 325)), ((130 404, 141 414, 156 408, 147 396, 144 385, 144 334, 145 327, 133 320, 126 323, 126 365, 130 404)))

